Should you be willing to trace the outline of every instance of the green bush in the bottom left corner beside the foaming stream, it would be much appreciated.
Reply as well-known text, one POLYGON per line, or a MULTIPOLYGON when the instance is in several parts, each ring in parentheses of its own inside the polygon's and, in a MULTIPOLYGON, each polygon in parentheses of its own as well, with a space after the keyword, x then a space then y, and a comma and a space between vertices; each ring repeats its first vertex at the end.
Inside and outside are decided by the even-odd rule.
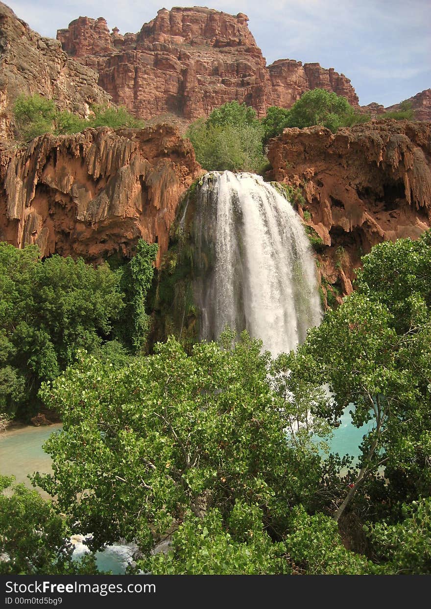
POLYGON ((0 476, 0 574, 97 574, 93 555, 72 561, 65 520, 51 502, 0 476))

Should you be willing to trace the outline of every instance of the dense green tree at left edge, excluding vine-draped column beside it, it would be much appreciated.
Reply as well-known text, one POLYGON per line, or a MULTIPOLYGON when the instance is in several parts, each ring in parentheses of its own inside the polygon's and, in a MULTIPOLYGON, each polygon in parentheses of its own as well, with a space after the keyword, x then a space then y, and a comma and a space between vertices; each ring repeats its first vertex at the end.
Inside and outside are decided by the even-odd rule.
POLYGON ((110 338, 123 307, 117 276, 82 259, 40 259, 37 246, 0 244, 0 409, 37 408, 43 379, 57 376, 79 348, 110 338))

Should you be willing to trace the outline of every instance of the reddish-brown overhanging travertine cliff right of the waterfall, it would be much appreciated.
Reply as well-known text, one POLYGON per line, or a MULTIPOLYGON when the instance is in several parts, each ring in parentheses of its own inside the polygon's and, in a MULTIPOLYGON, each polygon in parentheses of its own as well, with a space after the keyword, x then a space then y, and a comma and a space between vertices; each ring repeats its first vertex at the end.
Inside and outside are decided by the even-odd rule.
MULTIPOLYGON (((307 224, 323 242, 320 272, 352 290, 360 256, 381 241, 412 239, 431 225, 431 124, 371 121, 285 129, 270 141, 272 177, 303 192, 307 224)), ((324 283, 325 283, 324 280, 324 283)))

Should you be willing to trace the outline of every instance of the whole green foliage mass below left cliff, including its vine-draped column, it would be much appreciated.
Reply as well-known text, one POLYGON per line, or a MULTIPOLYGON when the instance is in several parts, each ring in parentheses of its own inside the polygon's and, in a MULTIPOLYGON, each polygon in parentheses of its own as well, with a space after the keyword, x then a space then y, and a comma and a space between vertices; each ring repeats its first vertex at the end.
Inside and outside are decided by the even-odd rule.
POLYGON ((54 379, 85 349, 116 365, 145 348, 145 311, 157 245, 143 239, 115 272, 82 258, 0 244, 0 412, 25 417, 41 381, 54 379))

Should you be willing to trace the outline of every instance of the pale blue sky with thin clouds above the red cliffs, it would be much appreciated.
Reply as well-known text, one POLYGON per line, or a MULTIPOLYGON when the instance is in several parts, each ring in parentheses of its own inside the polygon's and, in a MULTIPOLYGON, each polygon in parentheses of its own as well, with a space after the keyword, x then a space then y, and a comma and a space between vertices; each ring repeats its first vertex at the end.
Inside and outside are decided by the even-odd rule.
MULTIPOLYGON (((163 1, 5 0, 5 4, 33 30, 55 38, 57 29, 79 16, 102 16, 108 27, 116 26, 121 33, 138 32, 156 16, 163 1)), ((193 4, 197 0, 181 5, 193 4)), ((248 26, 268 64, 289 58, 318 62, 345 74, 361 105, 397 104, 431 88, 430 0, 212 0, 209 8, 248 15, 248 26)))

